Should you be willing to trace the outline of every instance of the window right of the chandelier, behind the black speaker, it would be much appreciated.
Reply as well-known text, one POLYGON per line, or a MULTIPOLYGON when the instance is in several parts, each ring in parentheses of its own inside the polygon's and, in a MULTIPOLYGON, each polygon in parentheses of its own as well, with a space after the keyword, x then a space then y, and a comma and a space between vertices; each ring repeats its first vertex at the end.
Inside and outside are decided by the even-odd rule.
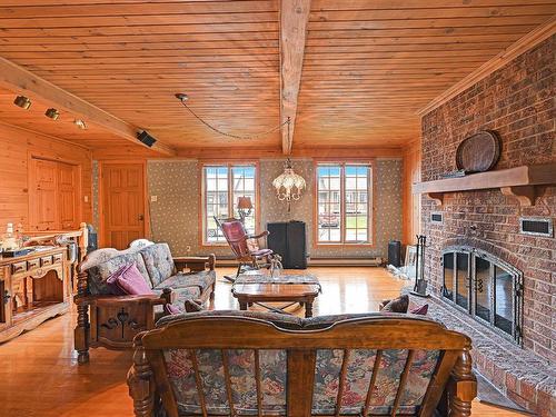
POLYGON ((370 245, 370 163, 318 162, 315 171, 317 245, 370 245))

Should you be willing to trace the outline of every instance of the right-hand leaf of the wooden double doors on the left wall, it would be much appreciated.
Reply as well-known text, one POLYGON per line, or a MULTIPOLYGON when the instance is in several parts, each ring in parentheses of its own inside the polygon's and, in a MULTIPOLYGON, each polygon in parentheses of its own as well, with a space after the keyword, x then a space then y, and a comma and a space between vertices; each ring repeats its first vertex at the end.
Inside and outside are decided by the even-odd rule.
POLYGON ((78 167, 58 163, 58 218, 62 230, 79 228, 78 167))

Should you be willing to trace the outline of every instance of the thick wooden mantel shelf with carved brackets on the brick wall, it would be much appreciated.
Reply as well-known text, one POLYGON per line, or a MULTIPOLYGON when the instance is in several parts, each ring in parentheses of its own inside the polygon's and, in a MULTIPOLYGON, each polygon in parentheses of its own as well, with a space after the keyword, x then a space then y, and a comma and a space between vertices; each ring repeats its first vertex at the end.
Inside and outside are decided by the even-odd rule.
POLYGON ((522 206, 534 206, 540 188, 556 185, 556 163, 522 166, 466 177, 446 178, 414 183, 414 193, 426 193, 438 205, 444 203, 445 192, 473 191, 499 188, 505 196, 514 196, 522 206))

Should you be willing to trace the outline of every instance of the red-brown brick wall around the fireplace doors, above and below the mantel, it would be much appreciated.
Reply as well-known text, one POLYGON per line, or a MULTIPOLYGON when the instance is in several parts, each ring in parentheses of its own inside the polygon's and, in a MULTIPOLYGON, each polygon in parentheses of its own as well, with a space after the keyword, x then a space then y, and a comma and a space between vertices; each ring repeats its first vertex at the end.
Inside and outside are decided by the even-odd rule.
MULTIPOLYGON (((494 169, 556 162, 554 121, 555 39, 545 40, 423 118, 423 180, 456 169, 458 143, 485 129, 503 147, 494 169)), ((556 239, 519 234, 520 216, 550 217, 556 225, 556 187, 533 207, 520 207, 499 190, 451 192, 443 208, 423 197, 426 269, 435 291, 441 287, 441 250, 475 242, 524 274, 524 347, 556 364, 556 239), (443 210, 444 225, 429 221, 443 210)))

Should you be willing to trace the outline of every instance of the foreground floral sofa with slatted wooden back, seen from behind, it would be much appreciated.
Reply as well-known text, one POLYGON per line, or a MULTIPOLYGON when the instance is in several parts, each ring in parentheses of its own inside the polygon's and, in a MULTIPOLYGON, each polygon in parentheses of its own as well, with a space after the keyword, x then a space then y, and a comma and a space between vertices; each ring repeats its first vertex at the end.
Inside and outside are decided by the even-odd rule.
POLYGON ((407 315, 203 311, 135 346, 136 416, 468 416, 476 395, 469 338, 407 315))

